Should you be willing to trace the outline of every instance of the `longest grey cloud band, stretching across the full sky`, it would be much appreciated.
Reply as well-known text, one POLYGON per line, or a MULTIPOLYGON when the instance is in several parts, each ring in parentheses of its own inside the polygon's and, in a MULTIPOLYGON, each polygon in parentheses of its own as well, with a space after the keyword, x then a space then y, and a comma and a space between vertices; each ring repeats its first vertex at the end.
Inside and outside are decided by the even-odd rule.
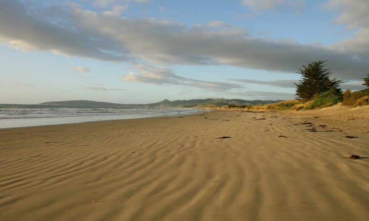
MULTIPOLYGON (((257 2, 244 1, 259 9, 299 3, 257 2)), ((348 4, 343 0, 330 2, 348 4)), ((364 2, 352 0, 350 3, 364 2)), ((351 8, 340 10, 341 16, 353 14, 351 8)), ((70 2, 42 7, 34 2, 14 0, 0 2, 0 42, 22 50, 50 51, 101 61, 164 66, 227 65, 275 73, 296 73, 302 65, 328 60, 327 68, 332 69, 333 77, 357 80, 369 70, 366 15, 360 11, 355 17, 341 19, 362 26, 355 38, 321 46, 253 37, 244 28, 217 21, 188 26, 153 18, 111 17, 70 2), (357 23, 355 19, 362 22, 357 23)), ((132 79, 145 77, 129 76, 132 79)))

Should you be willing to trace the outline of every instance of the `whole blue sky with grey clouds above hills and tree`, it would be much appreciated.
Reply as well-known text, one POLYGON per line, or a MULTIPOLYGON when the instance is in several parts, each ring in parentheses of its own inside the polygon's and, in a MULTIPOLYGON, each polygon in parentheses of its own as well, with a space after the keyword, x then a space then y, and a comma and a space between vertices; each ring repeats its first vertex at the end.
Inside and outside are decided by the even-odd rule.
POLYGON ((369 74, 367 0, 0 0, 0 103, 288 100, 369 74))

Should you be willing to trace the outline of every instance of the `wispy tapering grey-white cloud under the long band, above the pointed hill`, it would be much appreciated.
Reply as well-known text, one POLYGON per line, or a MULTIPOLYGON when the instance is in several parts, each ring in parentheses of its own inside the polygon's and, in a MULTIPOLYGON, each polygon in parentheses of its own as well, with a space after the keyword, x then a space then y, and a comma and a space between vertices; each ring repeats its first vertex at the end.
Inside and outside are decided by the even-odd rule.
POLYGON ((224 83, 218 81, 203 81, 185 78, 174 74, 170 69, 150 65, 136 65, 134 68, 139 72, 130 72, 121 77, 124 81, 139 82, 156 85, 182 85, 186 87, 201 88, 210 91, 229 91, 241 88, 239 84, 224 83))

